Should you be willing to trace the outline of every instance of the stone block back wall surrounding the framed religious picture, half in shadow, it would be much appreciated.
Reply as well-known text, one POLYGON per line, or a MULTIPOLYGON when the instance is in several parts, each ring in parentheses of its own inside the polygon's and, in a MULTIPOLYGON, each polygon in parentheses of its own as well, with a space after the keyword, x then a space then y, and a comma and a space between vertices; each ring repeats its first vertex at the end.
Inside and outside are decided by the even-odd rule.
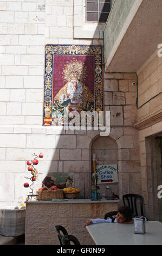
MULTIPOLYGON (((0 8, 0 205, 24 202, 30 191, 23 187, 26 161, 40 152, 35 190, 48 172, 74 172, 80 197, 89 198, 90 149, 99 132, 42 126, 44 45, 102 44, 103 23, 84 20, 85 1, 74 1, 74 7, 72 0, 1 1, 0 8)), ((134 74, 104 77, 110 137, 118 145, 120 197, 141 191, 134 81, 134 74)))

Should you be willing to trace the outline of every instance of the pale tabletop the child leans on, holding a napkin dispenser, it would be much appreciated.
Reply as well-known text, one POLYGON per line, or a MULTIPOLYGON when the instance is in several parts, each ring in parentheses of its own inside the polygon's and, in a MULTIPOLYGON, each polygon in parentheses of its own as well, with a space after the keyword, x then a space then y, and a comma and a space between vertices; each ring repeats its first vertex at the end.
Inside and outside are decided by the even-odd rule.
POLYGON ((134 234, 134 224, 100 223, 86 226, 96 245, 162 245, 162 223, 146 222, 146 233, 134 234))

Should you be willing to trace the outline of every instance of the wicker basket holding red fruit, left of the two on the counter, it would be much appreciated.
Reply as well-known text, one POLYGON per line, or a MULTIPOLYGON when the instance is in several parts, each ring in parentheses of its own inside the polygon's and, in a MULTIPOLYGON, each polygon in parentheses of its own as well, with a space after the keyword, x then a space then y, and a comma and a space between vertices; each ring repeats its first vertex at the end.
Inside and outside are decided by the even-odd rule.
POLYGON ((63 190, 37 191, 38 200, 52 200, 53 198, 63 199, 63 190))

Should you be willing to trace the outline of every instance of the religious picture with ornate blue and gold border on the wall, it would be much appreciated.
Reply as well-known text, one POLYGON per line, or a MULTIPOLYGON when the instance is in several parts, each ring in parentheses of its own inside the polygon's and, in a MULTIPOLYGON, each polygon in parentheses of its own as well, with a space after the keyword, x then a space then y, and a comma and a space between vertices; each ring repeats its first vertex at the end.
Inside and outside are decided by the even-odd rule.
POLYGON ((102 46, 46 45, 45 51, 43 125, 103 123, 102 46))

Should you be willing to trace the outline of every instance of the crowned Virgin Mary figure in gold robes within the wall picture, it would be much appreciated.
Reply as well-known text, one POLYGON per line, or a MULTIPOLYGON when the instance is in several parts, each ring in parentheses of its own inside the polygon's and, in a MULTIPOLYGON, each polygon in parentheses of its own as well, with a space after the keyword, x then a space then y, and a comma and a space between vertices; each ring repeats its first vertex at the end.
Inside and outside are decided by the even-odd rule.
POLYGON ((94 110, 94 95, 83 82, 87 77, 83 63, 71 60, 64 66, 62 74, 66 84, 53 100, 52 118, 55 125, 62 125, 65 115, 70 112, 80 114, 81 111, 94 110))

